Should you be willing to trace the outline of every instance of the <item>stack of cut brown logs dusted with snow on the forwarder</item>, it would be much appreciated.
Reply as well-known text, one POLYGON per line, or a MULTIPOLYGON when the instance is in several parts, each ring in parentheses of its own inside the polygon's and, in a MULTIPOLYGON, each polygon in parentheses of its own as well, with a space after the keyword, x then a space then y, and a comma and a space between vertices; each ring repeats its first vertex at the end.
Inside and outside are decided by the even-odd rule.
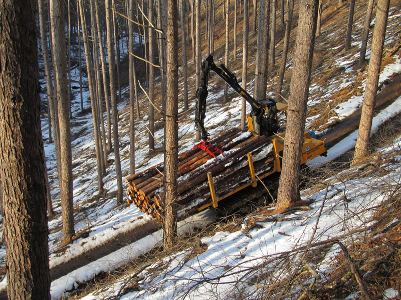
MULTIPOLYGON (((273 145, 266 136, 253 136, 249 131, 232 128, 210 140, 223 155, 216 160, 200 149, 178 155, 178 215, 189 209, 212 203, 208 173, 213 177, 216 198, 221 199, 241 186, 255 181, 250 171, 248 153, 252 155, 256 177, 273 171, 273 145)), ((125 178, 128 203, 134 203, 146 214, 161 220, 163 209, 163 164, 125 178)))

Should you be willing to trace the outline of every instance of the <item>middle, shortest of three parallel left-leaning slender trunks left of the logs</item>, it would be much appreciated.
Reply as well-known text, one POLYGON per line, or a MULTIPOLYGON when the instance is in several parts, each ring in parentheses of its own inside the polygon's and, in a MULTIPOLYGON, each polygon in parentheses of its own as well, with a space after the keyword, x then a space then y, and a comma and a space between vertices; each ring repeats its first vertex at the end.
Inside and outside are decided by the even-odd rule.
MULTIPOLYGON (((107 144, 108 150, 111 151, 113 144, 111 142, 111 115, 110 115, 110 100, 109 100, 109 80, 108 80, 108 68, 106 62, 106 53, 103 46, 102 38, 102 28, 99 15, 99 1, 95 0, 95 12, 96 12, 96 26, 99 34, 99 48, 100 48, 100 62, 102 65, 102 79, 103 79, 103 90, 104 90, 104 100, 106 101, 106 120, 107 120, 107 144)), ((107 159, 107 155, 106 155, 107 159)))

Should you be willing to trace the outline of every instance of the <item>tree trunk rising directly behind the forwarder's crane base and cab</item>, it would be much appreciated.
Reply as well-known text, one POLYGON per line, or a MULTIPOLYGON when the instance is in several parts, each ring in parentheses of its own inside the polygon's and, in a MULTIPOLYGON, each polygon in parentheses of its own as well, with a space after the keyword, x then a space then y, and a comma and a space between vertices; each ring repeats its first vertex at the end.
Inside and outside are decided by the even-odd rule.
POLYGON ((270 0, 259 1, 258 45, 256 52, 254 95, 257 100, 266 98, 266 83, 269 57, 270 0))

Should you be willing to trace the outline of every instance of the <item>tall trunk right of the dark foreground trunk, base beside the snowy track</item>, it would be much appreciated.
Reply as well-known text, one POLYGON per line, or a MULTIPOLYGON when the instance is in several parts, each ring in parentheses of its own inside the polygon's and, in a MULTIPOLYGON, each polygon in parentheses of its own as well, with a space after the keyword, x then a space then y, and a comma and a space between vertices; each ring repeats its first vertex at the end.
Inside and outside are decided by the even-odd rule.
POLYGON ((72 177, 72 151, 70 131, 70 103, 68 101, 67 88, 67 62, 66 39, 64 24, 64 2, 60 0, 50 1, 54 70, 57 82, 57 102, 59 104, 60 125, 60 157, 61 157, 61 182, 60 198, 63 218, 63 239, 70 242, 74 235, 74 201, 73 201, 73 177, 72 177))

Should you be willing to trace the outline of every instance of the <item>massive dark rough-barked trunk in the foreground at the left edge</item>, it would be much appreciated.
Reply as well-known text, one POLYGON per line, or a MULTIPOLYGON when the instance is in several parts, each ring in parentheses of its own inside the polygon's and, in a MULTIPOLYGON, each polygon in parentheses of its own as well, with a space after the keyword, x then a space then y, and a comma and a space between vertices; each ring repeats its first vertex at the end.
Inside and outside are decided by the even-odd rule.
POLYGON ((0 3, 0 194, 10 300, 51 298, 36 13, 37 1, 0 3))

